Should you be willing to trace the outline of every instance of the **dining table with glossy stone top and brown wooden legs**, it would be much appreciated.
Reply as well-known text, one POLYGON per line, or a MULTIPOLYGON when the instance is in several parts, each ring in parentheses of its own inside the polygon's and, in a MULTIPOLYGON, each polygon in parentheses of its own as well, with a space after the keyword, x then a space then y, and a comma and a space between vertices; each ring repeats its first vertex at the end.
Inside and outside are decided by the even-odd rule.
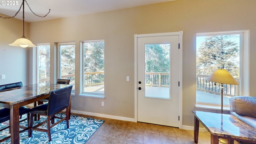
POLYGON ((51 91, 58 90, 66 86, 70 85, 41 82, 0 92, 0 107, 10 108, 11 144, 20 144, 19 108, 39 100, 49 98, 51 91))

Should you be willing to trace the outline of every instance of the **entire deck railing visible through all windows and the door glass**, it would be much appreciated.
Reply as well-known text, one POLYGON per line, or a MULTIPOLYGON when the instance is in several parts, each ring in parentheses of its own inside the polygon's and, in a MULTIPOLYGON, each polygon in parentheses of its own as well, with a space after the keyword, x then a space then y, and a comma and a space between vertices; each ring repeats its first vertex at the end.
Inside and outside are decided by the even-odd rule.
MULTIPOLYGON (((146 86, 152 87, 169 87, 170 78, 169 73, 161 72, 146 72, 145 73, 146 86)), ((85 86, 98 86, 104 84, 104 72, 85 72, 84 81, 85 86)), ((220 94, 221 87, 214 85, 214 82, 206 80, 208 75, 197 74, 196 75, 196 89, 204 92, 211 92, 214 94, 220 94)), ((70 84, 75 84, 75 74, 68 74, 62 76, 62 78, 70 79, 70 84)), ((235 78, 238 82, 239 79, 235 78)), ((50 78, 42 78, 40 82, 49 81, 50 78)), ((223 84, 223 94, 226 96, 237 96, 239 92, 239 85, 223 84)))

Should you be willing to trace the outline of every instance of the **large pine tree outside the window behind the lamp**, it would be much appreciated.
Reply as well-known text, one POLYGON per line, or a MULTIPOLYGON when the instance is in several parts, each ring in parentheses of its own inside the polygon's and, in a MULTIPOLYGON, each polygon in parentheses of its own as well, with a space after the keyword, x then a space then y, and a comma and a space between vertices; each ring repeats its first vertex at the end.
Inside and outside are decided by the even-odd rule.
POLYGON ((210 75, 214 70, 223 68, 233 76, 239 76, 238 43, 231 41, 234 35, 208 36, 201 44, 197 54, 197 74, 210 75))

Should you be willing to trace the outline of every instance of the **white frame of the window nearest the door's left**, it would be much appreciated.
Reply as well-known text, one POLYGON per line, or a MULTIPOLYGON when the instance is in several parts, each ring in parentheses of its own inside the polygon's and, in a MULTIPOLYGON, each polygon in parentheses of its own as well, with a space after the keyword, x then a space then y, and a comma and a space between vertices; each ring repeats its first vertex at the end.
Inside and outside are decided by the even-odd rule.
MULTIPOLYGON (((96 92, 85 92, 84 91, 84 43, 88 42, 104 42, 104 50, 103 54, 105 56, 105 40, 86 40, 81 42, 81 48, 82 48, 82 68, 81 68, 81 74, 82 74, 82 82, 80 82, 81 85, 81 92, 79 96, 84 96, 84 97, 91 97, 91 98, 105 98, 105 91, 103 93, 96 93, 96 92)), ((104 58, 104 73, 105 73, 105 58, 104 58)), ((105 84, 105 76, 104 76, 104 84, 105 84)))

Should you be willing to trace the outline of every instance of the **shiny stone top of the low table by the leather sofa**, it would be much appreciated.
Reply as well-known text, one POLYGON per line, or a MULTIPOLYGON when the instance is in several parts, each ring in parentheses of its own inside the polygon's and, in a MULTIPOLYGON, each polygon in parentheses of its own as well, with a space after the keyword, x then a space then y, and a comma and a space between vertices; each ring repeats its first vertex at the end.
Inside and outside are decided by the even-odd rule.
POLYGON ((256 128, 231 114, 193 111, 204 127, 215 136, 256 141, 256 128))

